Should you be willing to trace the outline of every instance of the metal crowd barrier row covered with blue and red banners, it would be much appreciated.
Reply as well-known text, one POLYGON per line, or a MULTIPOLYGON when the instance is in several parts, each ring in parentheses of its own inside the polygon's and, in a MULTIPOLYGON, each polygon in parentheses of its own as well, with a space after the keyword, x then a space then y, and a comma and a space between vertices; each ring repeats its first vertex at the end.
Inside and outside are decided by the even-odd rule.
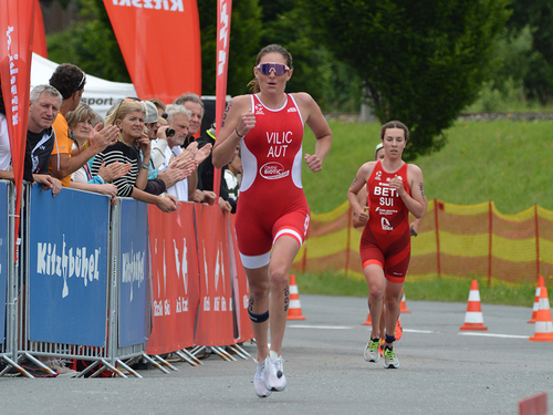
POLYGON ((80 376, 123 377, 119 367, 140 377, 129 366, 139 357, 176 370, 161 353, 197 365, 192 346, 249 356, 237 345, 253 339, 243 320, 249 288, 229 215, 218 207, 180 203, 167 215, 134 199, 111 206, 98 194, 64 188, 54 198, 24 185, 14 232, 13 193, 0 181, 0 356, 8 363, 0 375, 15 367, 32 377, 23 359, 48 371, 40 356, 91 361, 80 376))

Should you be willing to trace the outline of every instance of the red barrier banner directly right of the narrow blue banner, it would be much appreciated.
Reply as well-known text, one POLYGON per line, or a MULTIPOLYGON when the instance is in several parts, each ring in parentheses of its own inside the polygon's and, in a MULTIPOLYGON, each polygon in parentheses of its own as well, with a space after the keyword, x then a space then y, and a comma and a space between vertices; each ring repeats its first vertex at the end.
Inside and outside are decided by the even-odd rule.
POLYGON ((148 354, 170 353, 194 345, 199 281, 192 205, 180 203, 173 214, 148 206, 153 270, 148 354))

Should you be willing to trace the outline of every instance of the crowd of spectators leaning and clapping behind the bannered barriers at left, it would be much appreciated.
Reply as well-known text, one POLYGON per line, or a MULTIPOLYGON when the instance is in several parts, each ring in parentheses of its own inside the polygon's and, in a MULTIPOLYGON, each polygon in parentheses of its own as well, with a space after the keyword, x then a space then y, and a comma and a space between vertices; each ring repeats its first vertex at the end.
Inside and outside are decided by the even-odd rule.
MULTIPOLYGON (((211 164, 215 128, 195 138, 205 112, 197 94, 185 93, 167 105, 157 98, 127 97, 104 120, 81 103, 85 87, 86 74, 64 63, 49 85, 31 91, 24 180, 38 183, 54 197, 70 187, 105 195, 113 205, 119 197, 133 197, 164 212, 176 210, 180 201, 217 204, 223 211, 236 211, 238 149, 234 166, 221 172, 218 198, 211 164)), ((14 180, 1 89, 0 179, 14 180)), ((59 360, 41 360, 59 375, 76 374, 59 360)))

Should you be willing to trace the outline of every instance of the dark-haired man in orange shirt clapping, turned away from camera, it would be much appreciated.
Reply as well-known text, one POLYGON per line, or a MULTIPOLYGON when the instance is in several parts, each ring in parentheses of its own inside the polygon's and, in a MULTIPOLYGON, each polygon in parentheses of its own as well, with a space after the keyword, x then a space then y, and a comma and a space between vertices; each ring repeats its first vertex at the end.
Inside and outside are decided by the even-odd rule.
POLYGON ((52 125, 55 131, 54 148, 50 157, 50 173, 62 181, 63 187, 69 187, 71 174, 83 167, 88 159, 106 148, 117 137, 117 127, 108 125, 98 131, 100 125, 91 131, 87 142, 79 148, 79 154, 72 156, 73 139, 69 129, 65 115, 74 111, 81 102, 86 75, 71 63, 59 65, 49 81, 62 94, 63 101, 58 116, 52 125))

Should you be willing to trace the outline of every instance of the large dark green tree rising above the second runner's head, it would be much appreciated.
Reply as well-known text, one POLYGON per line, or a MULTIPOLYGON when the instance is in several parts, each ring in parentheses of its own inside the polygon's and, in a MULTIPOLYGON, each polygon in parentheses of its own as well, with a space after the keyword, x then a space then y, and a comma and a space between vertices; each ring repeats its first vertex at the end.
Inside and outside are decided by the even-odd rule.
POLYGON ((507 0, 300 0, 320 41, 362 79, 382 121, 411 131, 406 158, 438 151, 473 102, 507 0))

